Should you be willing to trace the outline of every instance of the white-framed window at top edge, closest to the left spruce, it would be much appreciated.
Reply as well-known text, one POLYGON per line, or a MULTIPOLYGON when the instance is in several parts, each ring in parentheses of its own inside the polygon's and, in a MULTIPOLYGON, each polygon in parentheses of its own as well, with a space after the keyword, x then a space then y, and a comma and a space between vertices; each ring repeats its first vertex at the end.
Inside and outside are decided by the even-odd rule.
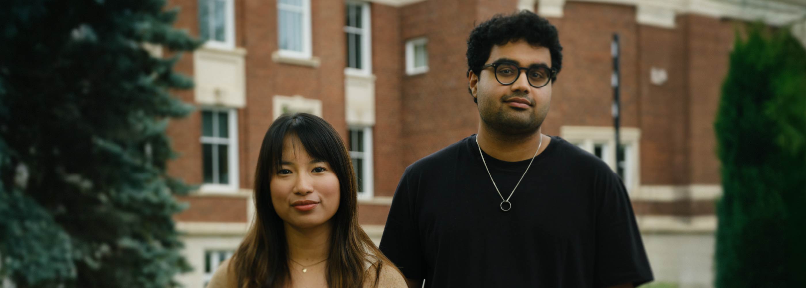
POLYGON ((235 0, 198 0, 199 37, 209 47, 235 47, 235 0))

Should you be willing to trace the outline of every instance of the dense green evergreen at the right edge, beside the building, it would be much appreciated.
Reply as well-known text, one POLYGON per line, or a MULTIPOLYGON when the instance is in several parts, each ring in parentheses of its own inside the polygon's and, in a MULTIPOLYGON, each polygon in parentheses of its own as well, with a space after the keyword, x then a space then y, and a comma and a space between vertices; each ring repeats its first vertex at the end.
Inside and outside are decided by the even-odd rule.
POLYGON ((714 124, 719 288, 806 287, 806 51, 762 31, 737 35, 714 124))

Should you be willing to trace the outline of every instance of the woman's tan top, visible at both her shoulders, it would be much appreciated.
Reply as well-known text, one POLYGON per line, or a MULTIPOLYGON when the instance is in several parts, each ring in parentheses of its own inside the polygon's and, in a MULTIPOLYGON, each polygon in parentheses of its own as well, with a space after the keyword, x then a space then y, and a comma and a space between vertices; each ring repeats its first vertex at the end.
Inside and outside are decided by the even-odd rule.
MULTIPOLYGON (((228 265, 230 264, 230 260, 227 259, 223 261, 221 265, 218 266, 218 269, 215 269, 215 273, 213 274, 213 278, 210 279, 210 283, 207 284, 207 288, 238 288, 238 279, 235 278, 235 274, 230 274, 228 265)), ((369 268, 372 265, 369 261, 365 263, 364 267, 369 268)), ((375 271, 368 271, 368 275, 375 275, 375 271)), ((364 288, 372 288, 372 284, 375 283, 375 279, 372 277, 367 278, 364 280, 364 288)), ((405 278, 400 272, 397 272, 397 269, 394 269, 390 265, 384 265, 384 268, 380 269, 380 277, 378 279, 378 288, 408 288, 409 286, 406 285, 405 278)))

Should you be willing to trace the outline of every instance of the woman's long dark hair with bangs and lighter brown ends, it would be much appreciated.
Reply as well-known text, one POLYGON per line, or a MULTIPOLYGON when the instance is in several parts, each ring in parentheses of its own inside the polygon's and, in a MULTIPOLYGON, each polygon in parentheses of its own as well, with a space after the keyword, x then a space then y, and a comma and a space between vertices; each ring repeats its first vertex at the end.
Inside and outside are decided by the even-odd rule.
MULTIPOLYGON (((279 288, 291 278, 288 245, 283 220, 272 205, 269 187, 272 175, 280 169, 283 140, 295 135, 311 158, 325 160, 339 178, 339 209, 333 216, 330 253, 327 258, 327 285, 355 288, 364 285, 366 261, 375 267, 375 286, 384 264, 391 264, 358 224, 356 180, 349 150, 333 126, 320 117, 297 113, 277 118, 268 128, 260 146, 255 170, 256 217, 247 236, 235 251, 230 266, 238 288, 279 288)), ((397 269, 390 265, 392 269, 397 269)))

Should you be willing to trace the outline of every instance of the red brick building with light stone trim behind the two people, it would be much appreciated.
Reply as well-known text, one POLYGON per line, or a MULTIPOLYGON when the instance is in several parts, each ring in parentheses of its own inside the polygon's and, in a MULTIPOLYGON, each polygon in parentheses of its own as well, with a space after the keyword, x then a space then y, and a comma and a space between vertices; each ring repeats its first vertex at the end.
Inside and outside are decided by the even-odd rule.
MULTIPOLYGON (((710 286, 714 200, 721 194, 713 119, 734 29, 798 23, 806 1, 751 0, 171 0, 177 27, 208 39, 177 69, 199 108, 168 133, 169 171, 199 191, 176 217, 182 275, 202 287, 237 247, 253 214, 264 133, 287 112, 324 117, 351 145, 359 222, 380 240, 410 163, 476 132, 467 93, 467 35, 493 14, 534 10, 559 29, 563 72, 543 133, 614 169, 613 33, 621 37, 625 184, 660 281, 710 286), (674 245, 670 245, 674 244, 674 245), (682 256, 681 256, 682 255, 682 256)), ((806 39, 806 24, 793 31, 806 39)))

